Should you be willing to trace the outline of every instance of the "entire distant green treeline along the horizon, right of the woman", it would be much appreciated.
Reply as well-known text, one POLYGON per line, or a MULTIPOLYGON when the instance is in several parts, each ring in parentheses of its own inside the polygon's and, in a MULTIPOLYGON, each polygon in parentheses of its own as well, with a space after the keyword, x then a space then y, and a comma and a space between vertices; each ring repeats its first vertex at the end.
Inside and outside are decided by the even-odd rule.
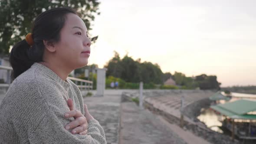
MULTIPOLYGON (((118 81, 119 88, 138 89, 138 83, 142 81, 145 89, 154 89, 156 88, 155 84, 162 85, 169 78, 174 79, 176 84, 181 86, 181 89, 195 89, 197 87, 200 87, 200 89, 220 88, 220 83, 217 82, 217 77, 214 75, 207 76, 203 74, 196 76, 196 78, 186 77, 181 72, 175 72, 174 75, 171 75, 170 72, 163 73, 158 64, 141 62, 140 59, 135 61, 127 55, 120 59, 117 52, 105 67, 108 69, 106 72, 109 78, 106 81, 108 88, 110 88, 111 82, 118 81), (110 76, 113 77, 111 78, 110 76)), ((178 87, 162 85, 161 88, 177 89, 178 87)))

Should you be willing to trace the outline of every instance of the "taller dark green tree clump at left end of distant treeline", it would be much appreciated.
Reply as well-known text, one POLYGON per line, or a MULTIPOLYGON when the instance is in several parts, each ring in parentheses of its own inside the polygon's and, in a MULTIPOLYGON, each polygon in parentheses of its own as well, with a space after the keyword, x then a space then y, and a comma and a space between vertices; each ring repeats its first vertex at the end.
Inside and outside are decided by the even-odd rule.
POLYGON ((108 69, 106 72, 107 77, 114 76, 123 79, 125 82, 163 83, 164 74, 159 65, 152 64, 151 62, 141 63, 139 59, 135 61, 127 55, 120 59, 117 52, 115 52, 115 56, 108 61, 105 67, 108 69))

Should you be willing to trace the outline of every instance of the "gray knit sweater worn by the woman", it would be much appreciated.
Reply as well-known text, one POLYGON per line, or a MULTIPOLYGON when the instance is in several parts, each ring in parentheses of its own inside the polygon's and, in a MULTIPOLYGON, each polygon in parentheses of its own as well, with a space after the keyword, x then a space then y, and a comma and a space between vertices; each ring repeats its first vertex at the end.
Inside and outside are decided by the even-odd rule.
POLYGON ((34 63, 13 81, 0 104, 0 144, 106 144, 104 130, 95 119, 89 121, 86 135, 65 129, 74 120, 64 116, 70 111, 68 98, 84 115, 79 88, 34 63))

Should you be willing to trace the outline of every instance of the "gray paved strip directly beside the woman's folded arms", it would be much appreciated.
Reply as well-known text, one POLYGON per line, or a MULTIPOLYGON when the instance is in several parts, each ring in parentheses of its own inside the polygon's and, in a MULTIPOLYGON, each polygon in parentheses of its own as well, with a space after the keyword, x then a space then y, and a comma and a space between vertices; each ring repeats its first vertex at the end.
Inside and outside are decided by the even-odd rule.
POLYGON ((104 97, 86 97, 84 103, 104 129, 107 144, 118 144, 121 91, 107 90, 104 97))

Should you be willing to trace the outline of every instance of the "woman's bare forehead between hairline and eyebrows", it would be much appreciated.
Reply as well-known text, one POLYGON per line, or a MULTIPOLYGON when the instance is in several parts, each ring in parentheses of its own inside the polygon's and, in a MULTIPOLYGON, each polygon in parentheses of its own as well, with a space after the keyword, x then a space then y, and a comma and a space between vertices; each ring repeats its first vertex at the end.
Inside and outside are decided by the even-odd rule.
POLYGON ((74 13, 68 13, 66 15, 66 21, 64 28, 73 29, 74 26, 80 27, 87 32, 84 21, 74 13))

